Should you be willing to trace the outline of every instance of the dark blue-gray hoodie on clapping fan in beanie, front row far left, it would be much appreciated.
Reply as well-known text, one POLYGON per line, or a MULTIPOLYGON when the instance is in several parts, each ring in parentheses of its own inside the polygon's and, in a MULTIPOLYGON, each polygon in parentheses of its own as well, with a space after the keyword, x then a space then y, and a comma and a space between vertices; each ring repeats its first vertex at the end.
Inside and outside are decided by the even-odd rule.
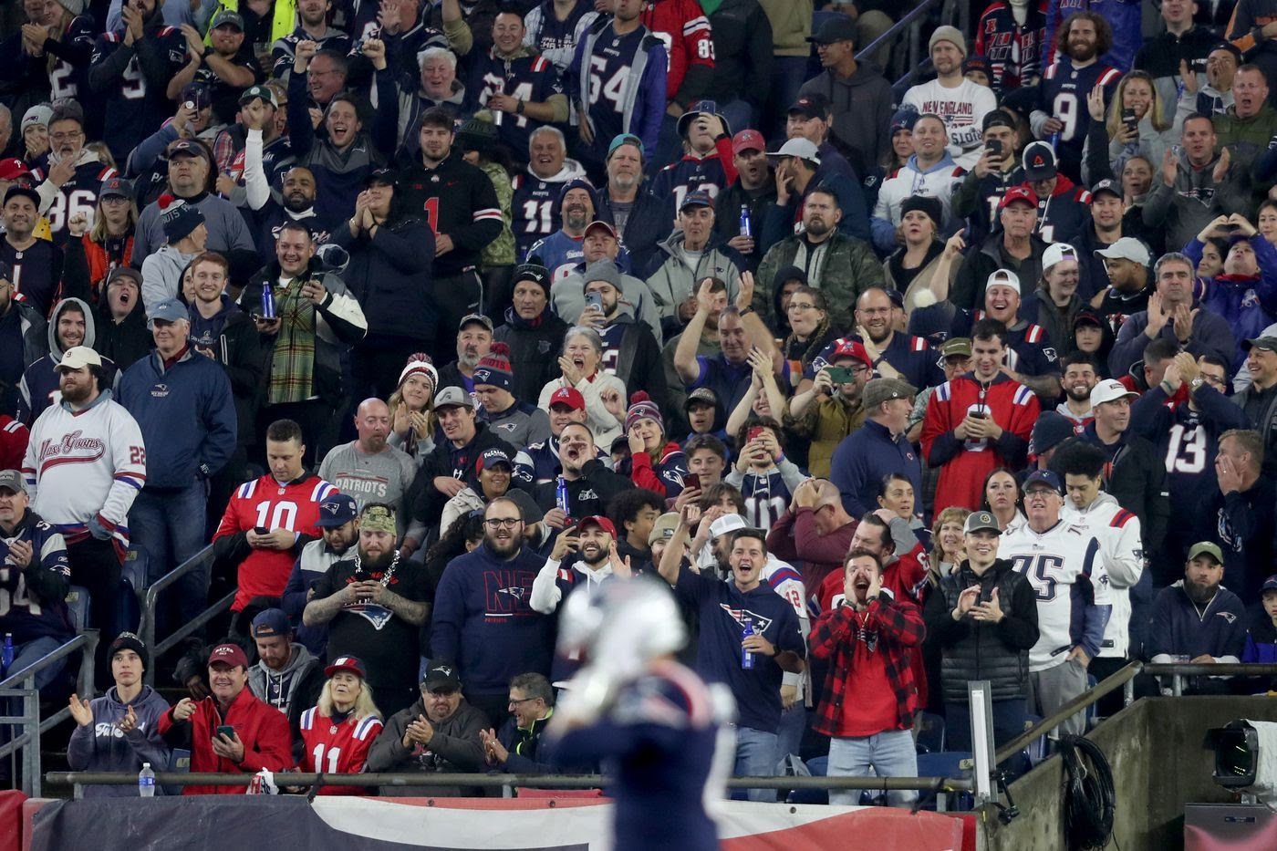
MULTIPOLYGON (((89 704, 93 723, 77 726, 66 745, 66 763, 74 772, 139 772, 142 763, 151 763, 153 770, 169 768, 169 747, 160 737, 160 716, 169 712, 169 702, 151 686, 128 704, 120 702, 115 686, 89 704), (138 717, 137 726, 123 732, 116 723, 132 705, 138 717)), ((158 787, 157 787, 158 790, 158 787)), ((158 790, 162 795, 162 790, 158 790)), ((132 786, 86 786, 84 797, 137 797, 132 786)))

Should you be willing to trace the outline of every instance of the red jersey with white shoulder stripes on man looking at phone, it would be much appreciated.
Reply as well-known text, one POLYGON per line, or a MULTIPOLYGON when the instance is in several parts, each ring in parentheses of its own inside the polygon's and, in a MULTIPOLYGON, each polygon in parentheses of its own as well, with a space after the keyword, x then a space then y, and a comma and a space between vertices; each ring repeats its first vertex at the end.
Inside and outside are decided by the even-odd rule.
POLYGON ((999 466, 1024 466, 1029 434, 1039 405, 1033 391, 999 374, 988 386, 972 373, 936 387, 922 419, 922 451, 931 466, 940 466, 936 511, 962 506, 976 511, 983 501, 985 477, 999 466), (985 413, 1002 428, 996 441, 959 440, 958 423, 973 411, 985 413))

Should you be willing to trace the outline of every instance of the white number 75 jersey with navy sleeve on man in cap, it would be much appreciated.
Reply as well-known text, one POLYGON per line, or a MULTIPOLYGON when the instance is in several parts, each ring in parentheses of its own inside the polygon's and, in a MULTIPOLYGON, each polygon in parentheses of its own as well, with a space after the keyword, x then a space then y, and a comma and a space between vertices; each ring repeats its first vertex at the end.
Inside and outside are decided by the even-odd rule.
POLYGON ((1024 524, 1002 535, 997 557, 1010 561, 1037 593, 1039 638, 1029 650, 1029 671, 1064 664, 1074 645, 1085 644, 1088 622, 1093 630, 1091 656, 1098 654, 1111 606, 1099 549, 1099 540, 1085 528, 1065 520, 1041 534, 1024 524), (1102 611, 1088 611, 1092 607, 1102 611))

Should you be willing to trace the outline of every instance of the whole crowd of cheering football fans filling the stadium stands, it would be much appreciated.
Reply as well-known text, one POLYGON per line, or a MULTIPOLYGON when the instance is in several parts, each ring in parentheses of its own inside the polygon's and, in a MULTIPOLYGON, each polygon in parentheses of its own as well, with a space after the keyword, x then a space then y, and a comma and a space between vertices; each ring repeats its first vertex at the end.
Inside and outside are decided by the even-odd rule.
POLYGON ((72 767, 589 769, 557 618, 621 581, 744 776, 1277 658, 1277 18, 994 0, 893 84, 903 10, 26 0, 0 631, 101 630, 72 767), (155 658, 209 542, 160 632, 231 616, 155 658))

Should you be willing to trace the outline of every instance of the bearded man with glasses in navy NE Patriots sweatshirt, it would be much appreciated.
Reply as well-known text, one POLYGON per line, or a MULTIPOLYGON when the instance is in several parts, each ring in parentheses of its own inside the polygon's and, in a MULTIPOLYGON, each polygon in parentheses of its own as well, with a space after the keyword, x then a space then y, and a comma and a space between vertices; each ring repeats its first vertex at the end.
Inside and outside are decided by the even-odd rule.
POLYGON ((484 509, 483 543, 455 558, 435 594, 430 649, 465 672, 466 700, 501 727, 507 686, 520 673, 549 675, 553 618, 531 607, 533 583, 545 560, 524 546, 518 503, 507 497, 484 509))

